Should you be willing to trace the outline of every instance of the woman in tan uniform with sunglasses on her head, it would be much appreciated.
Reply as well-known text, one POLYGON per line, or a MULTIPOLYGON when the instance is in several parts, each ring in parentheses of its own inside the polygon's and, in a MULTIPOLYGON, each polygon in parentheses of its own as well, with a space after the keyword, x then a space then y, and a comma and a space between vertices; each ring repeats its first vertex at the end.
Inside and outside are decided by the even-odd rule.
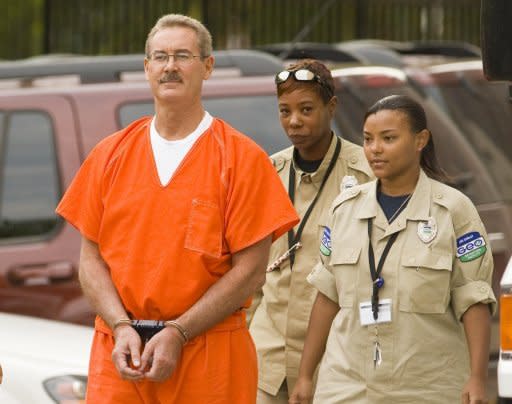
POLYGON ((329 69, 302 60, 280 72, 276 86, 279 118, 293 146, 273 155, 272 161, 301 222, 272 245, 266 283, 252 306, 258 404, 286 404, 297 379, 317 293, 306 276, 318 259, 321 216, 342 186, 367 182, 371 176, 362 148, 331 130, 337 99, 329 69))

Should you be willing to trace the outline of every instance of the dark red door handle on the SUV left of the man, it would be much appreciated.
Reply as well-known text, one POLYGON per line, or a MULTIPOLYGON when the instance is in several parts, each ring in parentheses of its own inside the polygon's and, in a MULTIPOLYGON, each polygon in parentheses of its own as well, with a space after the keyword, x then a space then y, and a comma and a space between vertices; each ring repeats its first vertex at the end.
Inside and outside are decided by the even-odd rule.
POLYGON ((7 271, 7 279, 16 286, 49 285, 70 280, 75 274, 71 262, 57 261, 46 264, 20 265, 7 271))

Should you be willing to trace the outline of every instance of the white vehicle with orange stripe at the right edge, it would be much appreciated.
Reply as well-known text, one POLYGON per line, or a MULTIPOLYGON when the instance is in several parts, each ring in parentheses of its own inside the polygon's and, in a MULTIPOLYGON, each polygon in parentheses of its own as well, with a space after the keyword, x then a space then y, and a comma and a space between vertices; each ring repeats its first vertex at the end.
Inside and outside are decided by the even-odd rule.
POLYGON ((512 257, 501 278, 500 358, 498 361, 498 396, 500 404, 512 403, 512 257))

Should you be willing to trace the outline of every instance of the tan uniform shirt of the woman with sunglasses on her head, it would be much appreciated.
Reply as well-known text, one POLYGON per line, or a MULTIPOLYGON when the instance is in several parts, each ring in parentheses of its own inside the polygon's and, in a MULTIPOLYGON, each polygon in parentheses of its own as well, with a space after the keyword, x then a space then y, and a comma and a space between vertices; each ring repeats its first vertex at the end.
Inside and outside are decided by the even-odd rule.
MULTIPOLYGON (((315 198, 332 160, 336 139, 333 136, 329 150, 315 173, 304 173, 294 165, 294 206, 301 220, 315 198)), ((304 227, 301 237, 303 247, 296 252, 293 271, 287 260, 280 269, 267 273, 261 302, 256 298, 252 307, 256 311, 250 323, 250 332, 258 353, 258 387, 272 395, 277 393, 285 377, 291 391, 298 375, 309 315, 316 296, 316 289, 306 282, 306 276, 318 260, 318 242, 322 235, 320 217, 328 213, 329 206, 340 193, 344 176, 354 176, 359 183, 363 183, 371 175, 362 148, 345 140, 341 142, 341 153, 304 227)), ((275 154, 272 160, 288 189, 293 147, 275 154)), ((272 245, 270 263, 287 249, 288 238, 283 235, 272 245)))

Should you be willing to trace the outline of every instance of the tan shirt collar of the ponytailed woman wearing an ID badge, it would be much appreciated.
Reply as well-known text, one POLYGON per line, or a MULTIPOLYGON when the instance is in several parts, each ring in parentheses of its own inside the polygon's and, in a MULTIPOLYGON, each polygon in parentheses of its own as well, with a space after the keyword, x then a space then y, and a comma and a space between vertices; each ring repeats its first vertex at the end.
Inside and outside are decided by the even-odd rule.
POLYGON ((362 220, 374 219, 374 224, 382 228, 385 233, 383 237, 387 237, 392 233, 403 230, 407 224, 407 220, 427 221, 430 214, 430 200, 432 199, 432 185, 429 178, 423 170, 420 170, 420 176, 414 192, 409 200, 405 210, 399 217, 388 224, 386 216, 377 202, 377 186, 378 181, 374 181, 369 187, 368 192, 364 195, 361 209, 356 214, 356 218, 362 220))

